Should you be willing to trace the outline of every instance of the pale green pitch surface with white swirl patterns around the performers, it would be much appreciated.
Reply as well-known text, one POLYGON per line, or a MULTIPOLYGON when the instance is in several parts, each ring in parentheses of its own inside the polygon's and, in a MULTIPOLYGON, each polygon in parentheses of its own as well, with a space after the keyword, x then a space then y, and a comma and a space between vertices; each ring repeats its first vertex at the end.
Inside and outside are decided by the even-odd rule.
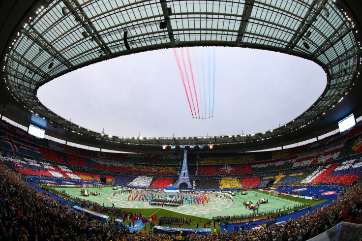
MULTIPOLYGON (((119 193, 119 191, 116 191, 116 195, 112 194, 113 187, 102 187, 101 190, 99 190, 98 187, 89 187, 86 188, 86 190, 89 190, 90 196, 84 197, 81 196, 81 188, 66 188, 66 187, 54 187, 58 192, 65 191, 69 196, 74 196, 78 198, 82 198, 85 200, 90 200, 93 202, 97 202, 100 205, 105 205, 108 207, 112 207, 112 204, 115 205, 115 207, 120 209, 160 209, 161 206, 151 206, 149 204, 149 201, 132 201, 131 199, 128 200, 129 193, 119 193), (93 196, 91 195, 91 192, 98 192, 100 195, 93 196)), ((251 201, 253 204, 256 204, 256 202, 262 198, 265 200, 268 199, 268 203, 260 204, 259 206, 259 212, 261 211, 284 211, 287 210, 288 206, 290 208, 293 208, 293 205, 304 203, 305 199, 300 199, 301 202, 297 202, 294 200, 287 200, 282 199, 278 197, 274 197, 272 195, 260 193, 260 192, 254 192, 254 191, 248 191, 248 194, 241 195, 241 193, 238 193, 236 196, 234 196, 234 201, 231 201, 228 198, 222 197, 222 194, 218 197, 215 196, 216 193, 206 193, 207 197, 210 197, 209 203, 205 203, 205 205, 202 205, 201 203, 198 205, 196 204, 189 204, 189 203, 183 203, 180 207, 163 207, 163 210, 169 210, 174 211, 178 213, 182 213, 185 215, 191 215, 196 216, 200 218, 208 218, 211 219, 213 216, 226 216, 230 215, 241 215, 241 214, 248 214, 251 213, 252 210, 249 208, 245 208, 245 206, 242 204, 244 201, 248 202, 251 201), (255 196, 255 193, 258 195, 255 196)))

